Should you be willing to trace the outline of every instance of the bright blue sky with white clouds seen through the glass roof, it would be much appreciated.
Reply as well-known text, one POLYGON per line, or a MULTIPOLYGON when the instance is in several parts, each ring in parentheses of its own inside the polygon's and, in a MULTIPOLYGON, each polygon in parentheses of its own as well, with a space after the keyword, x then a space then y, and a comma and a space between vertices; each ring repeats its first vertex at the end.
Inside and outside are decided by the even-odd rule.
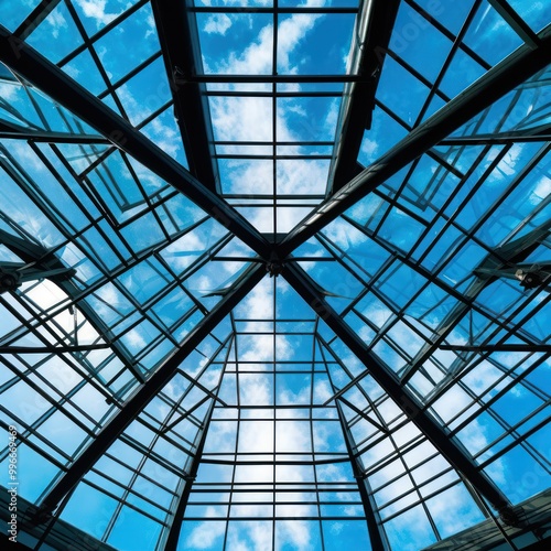
MULTIPOLYGON (((2 24, 15 29, 22 14, 35 3, 0 0, 2 24)), ((126 0, 73 3, 89 35, 133 6, 126 0)), ((549 21, 551 8, 543 2, 510 3, 534 31, 549 21)), ((377 160, 411 127, 425 120, 521 43, 489 3, 483 2, 464 39, 464 45, 478 57, 475 60, 465 47, 457 51, 443 75, 440 95, 425 105, 429 85, 440 74, 452 47, 446 33, 458 32, 473 2, 419 4, 442 26, 431 25, 402 2, 390 42, 399 61, 388 57, 385 63, 377 90, 379 104, 358 158, 364 165, 377 160), (408 65, 419 77, 406 68, 408 65)), ((329 3, 310 1, 303 6, 329 3)), ((272 25, 271 14, 199 14, 205 73, 270 75, 274 68, 272 25)), ((344 74, 353 26, 352 14, 281 15, 276 69, 296 75, 344 74)), ((31 34, 29 43, 60 63, 83 40, 62 2, 31 34)), ((155 57, 158 52, 152 10, 144 3, 95 42, 95 53, 114 84, 151 58, 142 72, 117 87, 117 98, 105 95, 106 83, 87 50, 63 68, 186 166, 172 107, 144 123, 171 99, 164 64, 155 57)), ((6 71, 0 75, 2 119, 34 129, 95 134, 37 90, 13 82, 6 71)), ((279 89, 336 89, 332 86, 292 84, 279 89)), ((271 93, 271 85, 209 85, 209 89, 271 93)), ((216 96, 209 101, 215 139, 271 142, 276 136, 279 141, 296 142, 288 145, 284 153, 299 155, 326 153, 327 149, 300 142, 334 140, 341 108, 341 98, 278 98, 276 114, 270 97, 216 96)), ((548 102, 549 85, 527 87, 518 96, 506 96, 457 130, 456 136, 530 128, 534 121, 539 125, 549 120, 548 102), (512 112, 504 118, 509 107, 512 112)), ((120 151, 110 154, 97 171, 89 171, 90 163, 105 152, 105 145, 60 144, 58 150, 67 160, 65 165, 45 144, 32 149, 26 142, 6 140, 3 145, 9 154, 0 153, 2 162, 14 168, 25 185, 20 187, 6 171, 1 173, 4 201, 0 229, 14 234, 17 226, 46 248, 60 247, 58 257, 75 267, 83 292, 93 289, 85 303, 118 337, 142 372, 163 361, 174 343, 185 338, 203 318, 197 304, 214 307, 220 300, 220 290, 239 278, 248 262, 230 257, 253 256, 198 207, 175 194, 166 182, 120 151), (44 160, 55 174, 44 170, 44 160), (72 171, 85 174, 85 180, 75 177, 72 171), (46 201, 51 197, 55 197, 54 205, 46 201), (153 212, 149 212, 151 205, 153 212), (8 225, 8 219, 15 225, 8 225), (78 238, 67 244, 65 233, 78 234, 78 238), (213 256, 218 259, 206 261, 204 255, 215 247, 213 256), (111 273, 116 276, 107 282, 106 274, 111 273)), ((226 145, 218 152, 271 154, 272 148, 226 145)), ((540 143, 495 145, 487 150, 475 145, 435 148, 431 155, 425 154, 419 163, 400 171, 327 225, 295 255, 310 257, 300 262, 302 268, 391 372, 401 374, 440 337, 455 345, 500 338, 507 338, 507 343, 549 344, 550 306, 545 292, 536 293, 532 299, 517 281, 506 278, 486 285, 473 270, 488 257, 489 249, 529 235, 549 219, 550 160, 540 143), (437 163, 437 155, 454 171, 437 163), (531 163, 536 169, 519 180, 518 175, 531 163), (472 166, 473 173, 467 177, 472 166), (474 201, 467 202, 469 196, 474 201), (490 210, 485 219, 485 213, 490 210), (435 281, 429 281, 428 273, 434 274, 435 281), (472 299, 473 310, 465 310, 457 295, 472 299), (514 324, 519 327, 512 335, 504 331, 514 324), (451 325, 454 328, 447 333, 451 325)), ((271 195, 276 188, 277 194, 316 196, 325 193, 329 161, 299 159, 277 161, 274 165, 270 160, 228 159, 220 160, 219 165, 225 193, 271 195)), ((241 212, 261 231, 288 231, 318 201, 293 208, 289 205, 302 202, 290 199, 287 208, 277 210, 277 228, 272 223, 273 203, 241 207, 241 212)), ((17 260, 3 246, 0 258, 17 260)), ((528 261, 549 262, 549 239, 536 248, 528 261)), ((39 312, 50 315, 43 338, 52 343, 67 339, 74 322, 68 303, 69 298, 50 281, 25 283, 20 300, 2 295, 2 342, 40 344, 36 335, 21 328, 22 320, 33 323, 39 312), (25 310, 22 304, 29 307, 25 310)), ((80 342, 102 344, 98 332, 85 321, 85 314, 78 311, 78 316, 80 342)), ((278 550, 307 551, 320 549, 322 538, 326 549, 358 545, 359 541, 367 549, 366 525, 358 519, 364 511, 358 505, 360 498, 349 463, 321 463, 315 468, 284 462, 274 467, 270 463, 285 457, 285 453, 299 462, 326 460, 329 452, 345 456, 334 401, 325 409, 313 408, 311 414, 320 420, 312 423, 307 420, 310 410, 300 406, 320 406, 331 399, 363 374, 365 366, 323 322, 315 321, 312 309, 282 278, 266 277, 235 309, 234 318, 234 326, 226 318, 182 366, 202 388, 194 388, 181 372, 175 376, 163 389, 163 396, 148 406, 86 482, 77 486, 61 518, 121 549, 139 550, 144 542, 154 548, 161 536, 159 520, 164 519, 171 505, 171 491, 182 484, 182 465, 187 468, 198 434, 197 423, 207 414, 210 402, 204 389, 208 389, 219 392, 229 407, 216 410, 205 456, 216 460, 217 453, 224 453, 229 460, 237 456, 266 464, 240 465, 235 472, 227 465, 204 464, 197 483, 216 480, 220 486, 216 493, 194 495, 194 499, 206 504, 190 507, 187 516, 194 520, 184 522, 179 549, 217 550, 226 541, 229 551, 257 551, 272 549, 273 541, 278 550), (216 354, 235 327, 240 334, 216 354), (273 335, 274 329, 280 334, 273 335), (314 338, 314 334, 318 336, 314 338), (222 377, 220 364, 226 355, 234 364, 222 377), (291 374, 291 369, 299 372, 291 374), (205 401, 201 403, 202 400, 205 401), (255 408, 264 403, 273 408, 255 408), (242 408, 240 414, 237 404, 242 408), (296 408, 287 409, 291 406, 296 408), (176 422, 182 411, 194 407, 197 423, 176 422), (163 423, 175 424, 162 436, 148 426, 159 429, 163 423), (249 488, 266 493, 230 491, 228 485, 234 476, 249 488), (338 483, 338 490, 317 496, 312 490, 314 482, 338 483), (282 491, 282 483, 292 484, 292 491, 282 491), (320 508, 317 498, 322 501, 320 508), (262 518, 271 517, 274 510, 283 519, 277 520, 272 533, 271 521, 262 518), (228 523, 223 520, 226 515, 231 517, 228 523), (258 518, 236 520, 246 515, 258 518), (321 521, 300 519, 317 515, 322 516, 321 521)), ((56 361, 55 357, 29 356, 23 358, 28 365, 18 358, 13 358, 11 368, 2 364, 2 415, 7 422, 15 419, 34 431, 31 440, 42 454, 31 446, 20 446, 20 468, 24 473, 21 490, 29 499, 39 499, 60 472, 58 466, 69 462, 80 444, 89 442, 88 431, 104 425, 115 412, 106 396, 128 397, 138 383, 109 350, 90 354, 77 367, 71 361, 56 361), (101 366, 95 372, 95 382, 88 381, 83 366, 93 366, 93 370, 101 366), (29 380, 15 382, 15 376, 28 367, 33 370, 29 380), (63 411, 54 407, 60 396, 71 398, 63 411)), ((509 442, 506 432, 510 426, 523 434, 544 419, 551 364, 548 359, 532 368, 540 358, 539 354, 495 354, 465 364, 456 353, 436 350, 408 383, 420 400, 434 398, 431 413, 456 431, 457 440, 514 503, 549 486, 549 472, 542 466, 549 466, 549 429, 530 435, 525 447, 501 453, 509 442), (449 387, 450 377, 466 365, 461 383, 449 387), (507 387, 525 376, 523 385, 507 387), (482 403, 494 398, 488 414, 482 410, 482 403), (539 408, 541 411, 532 415, 539 408)), ((413 551, 434 542, 436 534, 429 515, 441 538, 483 520, 457 474, 370 376, 344 397, 392 432, 386 434, 343 406, 393 548, 413 551), (402 454, 401 450, 410 444, 411 451, 402 454), (425 462, 428 457, 431 458, 425 462), (449 515, 451 503, 453 517, 449 515)))

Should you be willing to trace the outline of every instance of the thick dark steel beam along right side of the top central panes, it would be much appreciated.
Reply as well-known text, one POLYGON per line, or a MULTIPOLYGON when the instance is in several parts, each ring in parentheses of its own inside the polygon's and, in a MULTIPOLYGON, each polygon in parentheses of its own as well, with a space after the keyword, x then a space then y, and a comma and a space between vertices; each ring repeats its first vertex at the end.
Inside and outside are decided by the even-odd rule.
POLYGON ((371 127, 375 93, 399 6, 400 0, 364 2, 356 19, 350 73, 367 76, 369 80, 345 86, 329 168, 328 193, 341 190, 361 172, 363 166, 357 162, 359 148, 364 131, 371 127))

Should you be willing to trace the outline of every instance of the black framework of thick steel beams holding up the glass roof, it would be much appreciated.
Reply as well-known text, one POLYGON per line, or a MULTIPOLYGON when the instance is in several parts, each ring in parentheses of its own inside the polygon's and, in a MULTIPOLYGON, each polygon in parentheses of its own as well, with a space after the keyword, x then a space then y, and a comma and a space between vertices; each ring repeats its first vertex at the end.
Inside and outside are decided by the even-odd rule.
MULTIPOLYGON (((71 496, 75 486, 93 468, 97 458, 108 451, 132 420, 137 418, 158 392, 174 377, 182 361, 233 312, 262 280, 267 272, 270 277, 281 274, 313 310, 316 317, 322 320, 365 366, 365 371, 359 377, 350 377, 350 383, 341 390, 332 381, 333 397, 328 401, 333 402, 332 407, 336 408, 338 422, 343 429, 354 476, 358 482, 374 549, 387 551, 390 549, 390 544, 385 530, 381 529, 382 521, 372 503, 372 489, 368 479, 364 476, 366 466, 359 460, 358 449, 355 445, 354 436, 347 428, 343 412, 343 404, 354 410, 354 404, 348 402, 343 396, 345 391, 368 376, 392 399, 406 419, 415 424, 424 437, 461 473, 467 485, 491 504, 499 512, 504 522, 511 526, 521 522, 517 511, 505 494, 486 475, 480 465, 475 463, 455 435, 440 425, 439 421, 431 413, 430 407, 423 404, 408 389, 407 383, 410 377, 417 372, 436 347, 442 350, 453 349, 465 353, 490 353, 496 350, 511 353, 530 352, 543 353, 549 356, 549 344, 488 344, 479 347, 474 345, 450 346, 444 344, 443 341, 453 328, 451 326, 442 339, 435 346, 430 347, 430 350, 425 350, 421 359, 418 358, 410 366, 406 377, 400 379, 387 368, 358 337, 356 332, 347 325, 343 316, 332 307, 327 295, 323 293, 323 289, 300 268, 296 261, 299 259, 293 258, 293 252, 306 244, 310 238, 326 228, 335 218, 343 215, 346 209, 377 190, 378 186, 391 179, 409 163, 414 162, 425 153, 430 153, 435 145, 474 145, 508 143, 510 140, 521 142, 548 140, 549 129, 547 127, 543 129, 540 128, 533 133, 522 133, 521 136, 510 133, 501 137, 449 138, 453 131, 542 71, 551 61, 551 32, 549 30, 536 34, 511 10, 508 2, 495 0, 490 1, 490 3, 516 32, 525 39, 526 44, 504 62, 489 69, 485 76, 479 78, 464 94, 452 99, 436 115, 419 125, 398 145, 382 155, 379 161, 359 173, 359 166, 355 164, 355 159, 360 147, 364 129, 369 127, 370 123, 369 111, 374 107, 375 90, 382 63, 380 55, 378 56, 377 54, 379 52, 387 52, 390 33, 400 2, 391 2, 390 8, 388 2, 374 1, 366 3, 366 6, 370 7, 370 17, 374 20, 367 21, 364 29, 365 33, 360 39, 364 47, 366 47, 365 52, 370 52, 371 55, 364 53, 364 55, 359 56, 358 73, 360 77, 357 75, 306 77, 278 75, 276 73, 267 76, 204 75, 201 66, 196 22, 191 6, 176 7, 176 4, 162 0, 152 1, 156 26, 160 30, 159 36, 166 74, 169 80, 174 85, 171 87, 174 112, 182 132, 191 172, 183 169, 122 117, 116 115, 93 94, 76 84, 63 71, 25 43, 24 39, 32 32, 33 25, 40 24, 56 7, 57 2, 41 2, 29 20, 14 33, 0 28, 0 61, 25 82, 31 83, 37 89, 47 94, 98 132, 97 137, 79 138, 55 132, 33 132, 2 125, 0 137, 7 139, 30 139, 36 142, 44 141, 48 143, 109 143, 114 148, 125 151, 139 160, 144 166, 169 182, 177 192, 184 194, 194 204, 203 208, 212 218, 227 228, 231 236, 240 239, 257 255, 256 258, 251 257, 248 259, 251 266, 237 279, 237 282, 229 288, 213 292, 214 295, 219 294, 222 301, 206 313, 203 321, 196 325, 179 345, 177 349, 163 361, 154 374, 148 378, 141 378, 140 388, 120 406, 120 410, 105 424, 98 434, 94 435, 91 442, 68 465, 62 476, 56 479, 55 484, 53 484, 42 498, 40 507, 35 511, 34 520, 36 522, 44 522, 51 518, 51 515, 60 504, 71 496), (385 24, 378 25, 374 31, 374 22, 378 23, 383 19, 383 15, 385 24), (369 32, 370 29, 372 32, 369 32), (185 36, 186 41, 184 47, 179 46, 182 35, 185 36), (368 78, 366 78, 366 75, 368 75, 368 78), (219 174, 213 147, 214 137, 208 102, 206 101, 206 96, 208 95, 206 84, 220 84, 225 82, 239 84, 268 83, 273 86, 281 83, 349 83, 348 86, 352 91, 348 104, 342 108, 344 115, 341 136, 337 138, 338 145, 332 158, 331 177, 333 193, 282 239, 278 239, 277 236, 267 238, 244 215, 219 196, 219 174), (365 100, 366 95, 369 97, 369 101, 365 100), (276 242, 272 242, 274 240, 276 242)), ((228 10, 225 9, 224 11, 228 10)), ((280 10, 280 12, 284 13, 284 10, 280 10)), ((296 10, 293 9, 293 13, 295 12, 296 10)), ((276 93, 272 90, 269 97, 274 98, 276 93)), ((273 119, 273 123, 276 126, 276 118, 273 119)), ((276 160, 276 153, 273 153, 273 160, 276 160)), ((2 239, 1 242, 9 247, 8 241, 10 239, 14 240, 15 238, 10 236, 2 239)), ((28 246, 30 247, 29 244, 25 245, 25 247, 28 246)), ((515 250, 517 249, 518 247, 515 248, 515 250)), ((48 251, 45 251, 44 258, 47 259, 47 255, 48 251)), ((25 258, 25 260, 29 260, 29 258, 25 258)), ((520 260, 516 259, 517 262, 520 260)), ((53 262, 51 264, 53 266, 53 262)), ((486 283, 488 282, 486 281, 486 283)), ((484 285, 480 285, 477 292, 482 292, 483 290, 484 285)), ((468 299, 472 298, 468 292, 464 293, 464 295, 467 295, 468 299)), ((468 310, 468 306, 469 304, 465 304, 460 307, 463 312, 468 310)), ((90 316, 93 316, 93 313, 90 313, 90 316)), ((233 323, 235 327, 235 321, 233 323)), ((237 332, 235 334, 237 335, 237 332)), ((318 341, 322 342, 323 339, 320 338, 318 341)), ((13 350, 14 348, 11 352, 13 353, 13 350)), ((204 390, 206 391, 206 389, 204 390)), ((169 522, 170 527, 165 532, 165 549, 176 549, 177 547, 182 520, 191 496, 192 482, 197 474, 215 407, 227 406, 222 403, 222 399, 218 397, 219 387, 206 393, 207 397, 205 397, 204 402, 199 406, 209 400, 208 412, 195 441, 195 455, 191 464, 185 466, 185 472, 188 476, 185 483, 182 483, 177 488, 177 498, 172 506, 173 515, 169 522)), ((327 402, 324 406, 327 406, 327 402)), ((190 415, 192 413, 193 411, 188 412, 190 415)), ((357 410, 356 413, 376 428, 385 429, 377 421, 364 414, 361 410, 357 410)))

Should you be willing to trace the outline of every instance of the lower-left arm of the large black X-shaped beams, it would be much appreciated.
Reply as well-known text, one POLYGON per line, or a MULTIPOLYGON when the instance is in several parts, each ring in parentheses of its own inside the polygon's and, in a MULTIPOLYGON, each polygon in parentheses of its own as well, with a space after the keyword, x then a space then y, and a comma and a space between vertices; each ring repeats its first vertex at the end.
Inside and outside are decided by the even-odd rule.
POLYGON ((57 507, 60 501, 78 484, 98 458, 101 457, 126 428, 140 414, 143 408, 170 381, 182 361, 239 304, 264 274, 264 268, 259 264, 252 264, 245 272, 236 287, 195 326, 185 337, 180 348, 125 403, 122 409, 101 429, 88 447, 61 476, 42 500, 36 517, 37 520, 43 520, 57 507))

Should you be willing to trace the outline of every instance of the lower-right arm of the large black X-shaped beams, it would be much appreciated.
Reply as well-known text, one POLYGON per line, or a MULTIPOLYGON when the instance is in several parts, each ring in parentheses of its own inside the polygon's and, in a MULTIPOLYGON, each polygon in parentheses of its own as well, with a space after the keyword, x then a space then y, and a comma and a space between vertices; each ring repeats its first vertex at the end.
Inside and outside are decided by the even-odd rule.
POLYGON ((329 326, 341 341, 366 366, 374 380, 395 401, 404 415, 425 435, 442 456, 500 512, 505 518, 511 515, 511 504, 499 488, 479 471, 468 452, 451 437, 424 409, 418 398, 371 353, 354 329, 333 310, 333 307, 314 289, 312 280, 302 268, 293 264, 282 272, 285 280, 294 288, 304 301, 329 326))

